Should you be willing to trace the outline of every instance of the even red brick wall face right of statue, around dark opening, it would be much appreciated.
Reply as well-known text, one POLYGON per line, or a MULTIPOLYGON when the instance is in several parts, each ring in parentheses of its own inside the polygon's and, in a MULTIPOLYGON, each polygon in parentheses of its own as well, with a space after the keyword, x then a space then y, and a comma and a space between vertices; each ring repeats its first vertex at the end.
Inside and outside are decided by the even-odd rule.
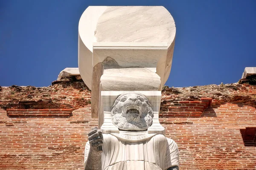
POLYGON ((256 109, 221 103, 198 118, 160 118, 177 142, 182 170, 255 170, 256 147, 245 147, 240 129, 256 127, 256 109))

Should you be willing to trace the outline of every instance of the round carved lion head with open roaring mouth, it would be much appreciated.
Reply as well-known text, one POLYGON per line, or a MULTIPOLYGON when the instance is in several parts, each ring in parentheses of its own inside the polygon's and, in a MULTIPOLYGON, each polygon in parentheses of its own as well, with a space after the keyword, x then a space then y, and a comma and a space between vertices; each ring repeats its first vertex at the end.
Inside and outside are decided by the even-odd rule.
POLYGON ((153 110, 143 94, 128 93, 117 97, 111 117, 119 130, 147 130, 152 125, 153 110))

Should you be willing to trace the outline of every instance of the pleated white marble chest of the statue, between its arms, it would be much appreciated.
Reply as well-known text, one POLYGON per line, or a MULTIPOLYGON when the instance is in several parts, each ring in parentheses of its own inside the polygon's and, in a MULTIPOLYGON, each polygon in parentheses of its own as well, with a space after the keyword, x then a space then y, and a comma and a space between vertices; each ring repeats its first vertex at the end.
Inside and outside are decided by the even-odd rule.
POLYGON ((157 170, 163 165, 160 160, 165 158, 166 144, 160 146, 161 142, 155 140, 154 136, 139 142, 122 141, 113 135, 103 138, 106 140, 103 142, 103 169, 125 169, 129 164, 129 169, 135 166, 135 169, 140 170, 157 170))

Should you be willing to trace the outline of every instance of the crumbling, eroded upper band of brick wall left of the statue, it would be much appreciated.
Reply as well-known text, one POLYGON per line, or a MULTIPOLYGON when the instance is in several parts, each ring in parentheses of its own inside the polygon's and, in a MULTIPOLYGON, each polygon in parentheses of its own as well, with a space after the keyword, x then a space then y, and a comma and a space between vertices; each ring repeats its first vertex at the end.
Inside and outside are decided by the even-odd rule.
POLYGON ((65 78, 49 87, 0 87, 0 108, 3 109, 71 109, 90 103, 90 91, 82 80, 65 78))

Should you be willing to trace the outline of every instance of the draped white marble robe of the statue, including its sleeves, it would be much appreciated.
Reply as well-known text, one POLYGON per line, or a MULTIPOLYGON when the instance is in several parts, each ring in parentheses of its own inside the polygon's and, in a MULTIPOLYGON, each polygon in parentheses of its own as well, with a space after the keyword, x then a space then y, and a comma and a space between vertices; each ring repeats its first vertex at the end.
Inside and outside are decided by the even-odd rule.
MULTIPOLYGON (((102 170, 167 170, 179 167, 177 144, 162 134, 134 142, 113 134, 103 134, 102 170)), ((85 146, 86 162, 90 150, 85 146)))

